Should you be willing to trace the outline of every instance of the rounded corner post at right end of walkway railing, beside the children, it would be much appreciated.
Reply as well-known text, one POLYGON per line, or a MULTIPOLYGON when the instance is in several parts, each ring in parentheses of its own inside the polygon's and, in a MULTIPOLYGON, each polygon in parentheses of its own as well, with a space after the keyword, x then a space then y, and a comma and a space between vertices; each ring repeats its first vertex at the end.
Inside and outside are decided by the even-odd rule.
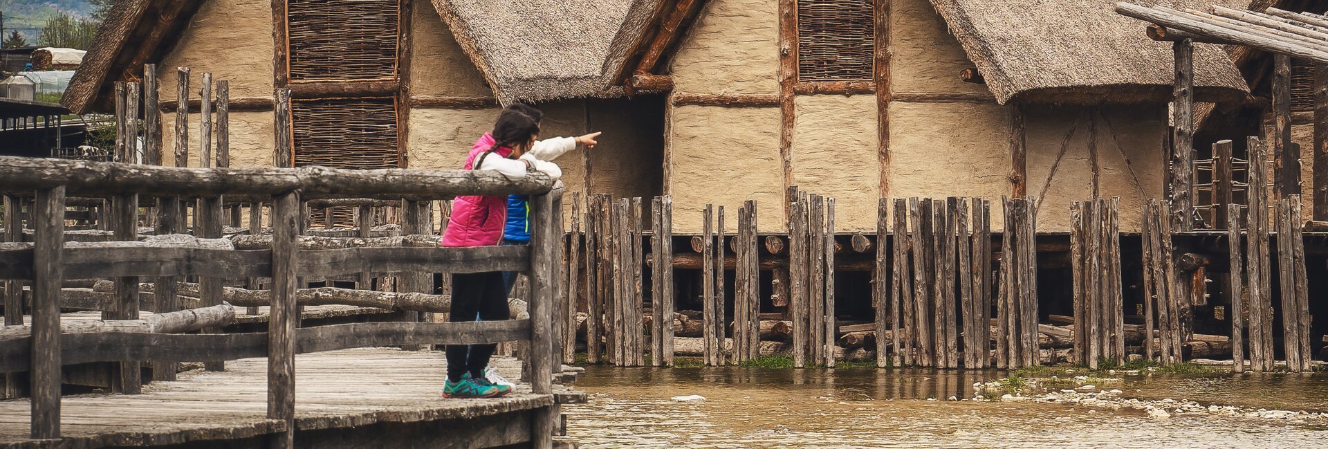
MULTIPOLYGON (((558 227, 554 223, 562 214, 558 211, 556 197, 562 187, 530 198, 530 388, 535 395, 552 393, 552 306, 555 300, 554 283, 558 264, 558 227)), ((555 406, 534 412, 531 424, 531 446, 552 448, 555 406)))

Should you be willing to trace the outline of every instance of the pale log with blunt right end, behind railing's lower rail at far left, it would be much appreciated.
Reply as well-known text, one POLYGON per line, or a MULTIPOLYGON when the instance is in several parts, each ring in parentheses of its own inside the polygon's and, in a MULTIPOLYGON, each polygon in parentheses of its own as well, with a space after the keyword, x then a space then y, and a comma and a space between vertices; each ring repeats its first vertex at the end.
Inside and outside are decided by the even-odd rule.
MULTIPOLYGON (((235 310, 230 304, 220 304, 205 308, 191 308, 178 312, 157 314, 137 320, 89 320, 66 321, 60 324, 61 333, 94 333, 94 332, 153 332, 153 333, 182 333, 202 329, 205 327, 220 327, 235 320, 235 310)), ((0 327, 0 341, 28 337, 32 335, 29 325, 0 327)))

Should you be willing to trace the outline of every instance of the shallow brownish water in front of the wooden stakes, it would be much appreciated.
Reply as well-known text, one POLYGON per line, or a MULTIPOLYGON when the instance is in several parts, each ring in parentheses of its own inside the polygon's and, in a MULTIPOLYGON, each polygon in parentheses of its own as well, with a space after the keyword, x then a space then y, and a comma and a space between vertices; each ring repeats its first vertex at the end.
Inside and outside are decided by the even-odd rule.
MULTIPOLYGON (((564 406, 586 448, 1288 448, 1328 425, 971 399, 1000 372, 588 367, 564 406), (673 396, 701 395, 704 403, 673 396)), ((1125 376, 1122 396, 1328 410, 1328 376, 1125 376), (1282 377, 1276 377, 1282 376, 1282 377), (1268 405, 1264 405, 1268 404, 1268 405), (1276 405, 1283 404, 1283 405, 1276 405)))

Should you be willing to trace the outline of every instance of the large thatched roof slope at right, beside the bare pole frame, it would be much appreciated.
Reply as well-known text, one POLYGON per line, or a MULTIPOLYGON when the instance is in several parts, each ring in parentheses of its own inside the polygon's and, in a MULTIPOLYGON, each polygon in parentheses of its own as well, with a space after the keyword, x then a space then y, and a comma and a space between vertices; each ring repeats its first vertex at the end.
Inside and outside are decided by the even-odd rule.
MULTIPOLYGON (((1169 43, 1117 15, 1116 0, 931 0, 983 74, 996 101, 1098 104, 1166 101, 1171 96, 1169 43)), ((1248 0, 1170 0, 1178 8, 1248 0)), ((1218 45, 1197 44, 1195 94, 1238 100, 1244 78, 1218 45)))

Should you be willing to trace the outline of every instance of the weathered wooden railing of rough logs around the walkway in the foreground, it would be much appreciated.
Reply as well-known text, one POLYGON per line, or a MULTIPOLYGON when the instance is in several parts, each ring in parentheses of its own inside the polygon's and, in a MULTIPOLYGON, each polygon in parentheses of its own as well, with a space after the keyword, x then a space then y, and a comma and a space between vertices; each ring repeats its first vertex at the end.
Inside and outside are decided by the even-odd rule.
MULTIPOLYGON (((282 145, 280 139, 279 143, 282 145)), ((224 361, 268 357, 268 418, 286 420, 282 446, 293 442, 295 355, 357 347, 530 343, 531 388, 551 393, 555 339, 552 314, 558 279, 562 187, 542 174, 510 178, 489 171, 301 169, 185 169, 114 162, 0 157, 0 191, 35 195, 32 243, 0 243, 0 279, 32 286, 31 336, 0 340, 0 369, 28 371, 32 437, 60 437, 61 365, 118 361, 224 361), (300 250, 301 202, 377 198, 404 203, 456 195, 531 195, 531 244, 503 247, 352 247, 300 250), (218 250, 178 244, 65 244, 64 211, 70 197, 109 198, 113 221, 137 228, 139 195, 197 198, 222 205, 223 195, 271 201, 272 238, 266 250, 218 250), (474 323, 357 323, 296 328, 297 278, 361 272, 523 271, 531 280, 530 317, 474 323), (206 299, 220 302, 223 278, 271 278, 267 332, 254 333, 61 333, 65 279, 116 279, 114 319, 135 319, 138 278, 198 276, 206 299), (210 287, 215 286, 215 287, 210 287), (207 288, 215 288, 212 295, 207 288)), ((195 209, 195 213, 205 213, 195 209)), ((214 217, 215 218, 215 217, 214 217)), ((207 218, 211 221, 211 218, 207 218)), ((408 234, 414 228, 408 228, 408 234)), ((428 230, 422 230, 428 232, 428 230)), ((418 231, 416 231, 418 232, 418 231)), ((214 235, 202 235, 214 236, 214 235)), ((215 235, 220 236, 220 235, 215 235)), ((134 240, 137 232, 120 232, 134 240)), ((412 276, 405 276, 412 278, 412 276)), ((414 276, 422 278, 422 276, 414 276)), ((163 284, 165 286, 165 284, 163 284)), ((174 282, 170 283, 174 286, 174 282)), ((11 306, 5 304, 5 312, 11 306)), ((122 369, 122 372, 125 372, 122 369)), ((137 385, 134 387, 137 389, 137 385)), ((554 416, 537 413, 535 446, 547 448, 554 416)))

